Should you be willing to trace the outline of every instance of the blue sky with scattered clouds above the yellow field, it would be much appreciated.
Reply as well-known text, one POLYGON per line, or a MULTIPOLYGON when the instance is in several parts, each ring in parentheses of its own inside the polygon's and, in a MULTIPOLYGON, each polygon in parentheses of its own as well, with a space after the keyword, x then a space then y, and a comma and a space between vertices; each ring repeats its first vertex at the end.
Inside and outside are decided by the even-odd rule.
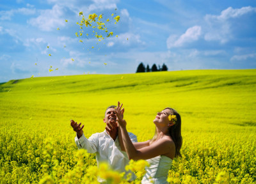
POLYGON ((0 0, 0 82, 134 73, 141 62, 169 71, 256 68, 256 1, 0 0), (77 38, 79 11, 120 15, 107 26, 118 37, 77 38))

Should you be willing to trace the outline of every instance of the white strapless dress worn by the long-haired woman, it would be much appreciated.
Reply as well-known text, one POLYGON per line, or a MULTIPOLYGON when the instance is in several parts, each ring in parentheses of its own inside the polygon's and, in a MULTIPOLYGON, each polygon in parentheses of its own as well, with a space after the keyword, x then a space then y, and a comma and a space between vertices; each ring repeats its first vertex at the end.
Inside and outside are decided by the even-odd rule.
POLYGON ((147 162, 150 166, 145 168, 146 174, 143 176, 141 183, 168 183, 166 179, 172 165, 172 159, 164 155, 159 155, 148 159, 147 162))

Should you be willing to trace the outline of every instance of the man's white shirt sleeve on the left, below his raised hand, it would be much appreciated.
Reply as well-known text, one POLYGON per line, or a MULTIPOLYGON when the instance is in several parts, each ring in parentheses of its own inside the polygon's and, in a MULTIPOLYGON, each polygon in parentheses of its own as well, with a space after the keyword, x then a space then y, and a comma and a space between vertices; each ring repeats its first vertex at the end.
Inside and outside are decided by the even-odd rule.
POLYGON ((75 142, 79 150, 85 149, 87 150, 88 153, 96 153, 99 137, 98 137, 98 134, 92 134, 92 136, 89 137, 89 139, 87 139, 83 134, 79 139, 76 136, 75 142))

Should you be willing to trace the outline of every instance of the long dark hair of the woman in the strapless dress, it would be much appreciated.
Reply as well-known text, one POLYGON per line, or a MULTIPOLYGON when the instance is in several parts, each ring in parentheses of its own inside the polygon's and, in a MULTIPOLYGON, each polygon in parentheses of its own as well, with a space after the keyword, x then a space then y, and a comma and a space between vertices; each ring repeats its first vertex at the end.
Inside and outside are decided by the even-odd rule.
POLYGON ((175 144, 175 157, 181 157, 180 155, 180 148, 182 146, 182 136, 181 136, 181 118, 180 114, 175 111, 174 109, 167 107, 165 109, 170 109, 171 115, 175 115, 177 118, 177 121, 175 122, 175 125, 169 128, 170 136, 172 137, 172 140, 175 144))

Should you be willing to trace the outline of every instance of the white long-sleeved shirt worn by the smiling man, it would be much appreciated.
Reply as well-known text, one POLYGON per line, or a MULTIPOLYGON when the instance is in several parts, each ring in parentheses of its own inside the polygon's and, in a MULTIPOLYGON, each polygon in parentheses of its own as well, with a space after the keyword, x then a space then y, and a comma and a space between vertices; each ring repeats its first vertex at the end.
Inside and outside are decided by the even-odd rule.
MULTIPOLYGON (((136 135, 128 133, 132 142, 138 142, 136 135)), ((108 162, 112 169, 125 172, 125 175, 131 172, 125 171, 125 165, 129 164, 129 158, 125 151, 121 151, 118 137, 114 141, 110 135, 104 130, 104 132, 92 134, 89 139, 86 139, 84 134, 78 139, 75 137, 75 142, 78 149, 86 149, 88 153, 96 153, 97 165, 100 162, 108 162)), ((135 180, 136 176, 132 173, 132 180, 135 180)))

